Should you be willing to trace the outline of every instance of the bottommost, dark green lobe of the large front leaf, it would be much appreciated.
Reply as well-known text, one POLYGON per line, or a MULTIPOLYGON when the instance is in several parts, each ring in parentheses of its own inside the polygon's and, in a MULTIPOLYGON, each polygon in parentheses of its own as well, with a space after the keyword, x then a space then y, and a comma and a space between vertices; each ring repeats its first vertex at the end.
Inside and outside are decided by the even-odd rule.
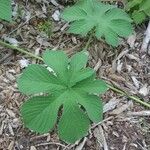
POLYGON ((90 121, 87 115, 72 101, 67 101, 63 107, 63 114, 58 124, 61 139, 74 143, 87 134, 90 121))

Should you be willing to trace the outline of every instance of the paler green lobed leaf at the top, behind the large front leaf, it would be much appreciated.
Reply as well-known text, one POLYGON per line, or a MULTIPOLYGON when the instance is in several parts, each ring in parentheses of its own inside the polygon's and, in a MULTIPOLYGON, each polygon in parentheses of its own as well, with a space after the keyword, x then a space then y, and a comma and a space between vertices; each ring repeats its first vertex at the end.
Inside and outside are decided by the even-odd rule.
POLYGON ((64 10, 62 18, 71 22, 69 32, 86 35, 94 29, 96 37, 104 37, 112 46, 119 44, 119 37, 132 33, 131 19, 121 9, 98 0, 80 0, 64 10))

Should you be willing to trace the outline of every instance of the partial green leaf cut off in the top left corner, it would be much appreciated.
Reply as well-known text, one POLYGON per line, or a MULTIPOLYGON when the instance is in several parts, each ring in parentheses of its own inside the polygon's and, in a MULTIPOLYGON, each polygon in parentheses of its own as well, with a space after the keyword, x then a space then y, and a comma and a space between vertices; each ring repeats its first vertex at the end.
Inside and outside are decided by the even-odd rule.
POLYGON ((0 0, 0 18, 11 21, 11 0, 0 0))

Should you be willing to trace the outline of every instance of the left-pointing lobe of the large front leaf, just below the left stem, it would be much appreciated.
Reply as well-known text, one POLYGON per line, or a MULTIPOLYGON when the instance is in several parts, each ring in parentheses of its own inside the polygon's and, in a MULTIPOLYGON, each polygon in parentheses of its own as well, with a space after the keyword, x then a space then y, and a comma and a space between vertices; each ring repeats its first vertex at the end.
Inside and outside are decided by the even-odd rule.
POLYGON ((38 94, 65 89, 65 86, 44 67, 30 65, 18 79, 18 88, 24 94, 38 94))

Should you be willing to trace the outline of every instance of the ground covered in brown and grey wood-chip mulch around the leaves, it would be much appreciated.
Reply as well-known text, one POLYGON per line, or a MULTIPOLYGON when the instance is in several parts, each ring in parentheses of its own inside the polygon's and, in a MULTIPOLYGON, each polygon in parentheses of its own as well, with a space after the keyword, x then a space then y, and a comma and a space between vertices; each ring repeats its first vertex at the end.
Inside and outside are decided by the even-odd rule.
MULTIPOLYGON (((0 22, 0 38, 38 56, 46 49, 64 49, 69 56, 80 51, 88 37, 66 33, 68 24, 57 18, 64 5, 37 1, 16 1, 14 22, 0 22)), ((99 78, 148 102, 150 56, 140 51, 146 25, 138 26, 117 48, 93 38, 88 66, 99 78)), ((18 91, 16 79, 33 63, 41 62, 0 46, 0 150, 150 150, 148 108, 112 90, 102 97, 104 121, 92 125, 88 135, 73 145, 59 140, 56 129, 39 135, 25 128, 19 113, 25 96, 18 91)))

